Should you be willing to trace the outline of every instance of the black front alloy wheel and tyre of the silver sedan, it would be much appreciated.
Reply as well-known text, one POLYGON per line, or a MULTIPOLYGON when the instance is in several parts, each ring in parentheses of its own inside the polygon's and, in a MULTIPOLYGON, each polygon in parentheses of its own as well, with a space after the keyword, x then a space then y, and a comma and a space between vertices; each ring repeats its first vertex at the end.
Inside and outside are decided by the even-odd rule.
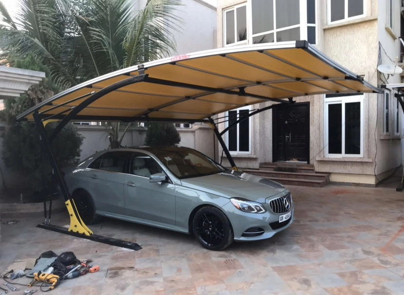
POLYGON ((223 250, 234 240, 229 219, 213 206, 203 207, 196 212, 192 230, 196 240, 209 250, 223 250))

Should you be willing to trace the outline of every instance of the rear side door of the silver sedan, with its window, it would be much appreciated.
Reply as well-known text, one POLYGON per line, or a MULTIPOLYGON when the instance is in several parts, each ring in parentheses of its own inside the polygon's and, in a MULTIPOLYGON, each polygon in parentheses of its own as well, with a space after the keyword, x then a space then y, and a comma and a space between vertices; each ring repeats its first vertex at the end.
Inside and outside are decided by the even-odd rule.
POLYGON ((129 156, 128 151, 106 152, 83 171, 85 189, 93 197, 98 211, 125 214, 123 186, 129 156))

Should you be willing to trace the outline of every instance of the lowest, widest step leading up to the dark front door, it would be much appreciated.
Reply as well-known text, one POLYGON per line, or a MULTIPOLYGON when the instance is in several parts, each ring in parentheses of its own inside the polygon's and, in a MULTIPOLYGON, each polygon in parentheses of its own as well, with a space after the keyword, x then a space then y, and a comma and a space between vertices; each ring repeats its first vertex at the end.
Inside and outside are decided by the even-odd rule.
POLYGON ((243 172, 261 176, 281 184, 322 187, 329 184, 329 174, 282 172, 267 169, 243 169, 243 172))

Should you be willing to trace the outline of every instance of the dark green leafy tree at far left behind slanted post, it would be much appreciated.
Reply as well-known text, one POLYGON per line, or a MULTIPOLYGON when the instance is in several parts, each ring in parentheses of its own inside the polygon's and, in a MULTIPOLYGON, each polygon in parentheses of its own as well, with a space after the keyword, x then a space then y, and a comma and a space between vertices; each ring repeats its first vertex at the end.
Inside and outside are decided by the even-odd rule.
MULTIPOLYGON (((13 66, 48 72, 48 69, 32 55, 15 61, 13 66)), ((43 191, 49 187, 52 181, 52 168, 48 156, 41 150, 35 123, 18 123, 16 116, 53 96, 57 91, 58 87, 45 78, 37 85, 31 86, 25 94, 4 101, 5 109, 2 111, 2 116, 7 121, 7 128, 3 135, 3 160, 6 166, 29 177, 29 183, 34 191, 43 191)), ((45 129, 48 134, 51 134, 55 127, 55 124, 49 123, 45 129)), ((51 147, 60 167, 77 163, 82 141, 83 137, 77 133, 77 129, 73 125, 66 126, 58 134, 51 147)))

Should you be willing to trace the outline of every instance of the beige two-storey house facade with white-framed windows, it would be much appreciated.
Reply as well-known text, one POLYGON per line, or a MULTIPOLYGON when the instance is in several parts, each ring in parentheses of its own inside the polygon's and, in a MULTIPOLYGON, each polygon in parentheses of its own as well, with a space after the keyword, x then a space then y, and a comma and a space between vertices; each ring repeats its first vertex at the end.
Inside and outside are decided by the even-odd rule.
MULTIPOLYGON (((400 64, 401 10, 400 0, 218 0, 217 46, 308 40, 373 85, 401 83, 400 74, 377 70, 400 64)), ((403 112, 394 93, 296 95, 295 104, 227 132, 237 166, 308 163, 331 182, 375 185, 401 165, 403 112)), ((226 112, 220 129, 270 104, 226 112)))

